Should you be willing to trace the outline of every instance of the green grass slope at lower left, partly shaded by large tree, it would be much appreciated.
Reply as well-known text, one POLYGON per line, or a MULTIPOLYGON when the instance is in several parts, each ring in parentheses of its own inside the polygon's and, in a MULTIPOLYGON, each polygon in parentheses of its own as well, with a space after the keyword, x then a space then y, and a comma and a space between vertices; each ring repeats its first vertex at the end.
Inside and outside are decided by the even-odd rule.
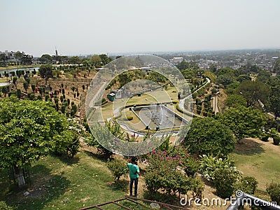
POLYGON ((31 166, 29 188, 11 190, 6 170, 0 170, 0 176, 0 200, 15 209, 79 209, 127 194, 111 185, 113 176, 106 162, 87 151, 80 151, 72 161, 52 156, 41 158, 31 166), (31 195, 25 197, 26 190, 31 195))

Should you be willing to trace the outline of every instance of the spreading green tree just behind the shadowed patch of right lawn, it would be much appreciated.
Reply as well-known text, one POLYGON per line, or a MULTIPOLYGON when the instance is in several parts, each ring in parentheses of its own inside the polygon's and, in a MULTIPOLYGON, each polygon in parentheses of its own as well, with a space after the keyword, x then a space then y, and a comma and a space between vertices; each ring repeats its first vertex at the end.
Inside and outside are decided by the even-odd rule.
POLYGON ((259 137, 265 125, 265 118, 258 109, 238 106, 226 110, 221 116, 221 123, 230 127, 240 143, 245 137, 259 137))

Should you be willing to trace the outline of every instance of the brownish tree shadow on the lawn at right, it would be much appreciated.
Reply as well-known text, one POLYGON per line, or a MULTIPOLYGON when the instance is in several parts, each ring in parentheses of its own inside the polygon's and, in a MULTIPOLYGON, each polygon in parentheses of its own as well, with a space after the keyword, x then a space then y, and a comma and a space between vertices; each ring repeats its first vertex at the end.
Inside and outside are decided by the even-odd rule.
POLYGON ((253 141, 252 139, 242 139, 241 144, 236 144, 235 150, 233 151, 233 153, 238 155, 256 155, 264 152, 262 143, 253 141))

